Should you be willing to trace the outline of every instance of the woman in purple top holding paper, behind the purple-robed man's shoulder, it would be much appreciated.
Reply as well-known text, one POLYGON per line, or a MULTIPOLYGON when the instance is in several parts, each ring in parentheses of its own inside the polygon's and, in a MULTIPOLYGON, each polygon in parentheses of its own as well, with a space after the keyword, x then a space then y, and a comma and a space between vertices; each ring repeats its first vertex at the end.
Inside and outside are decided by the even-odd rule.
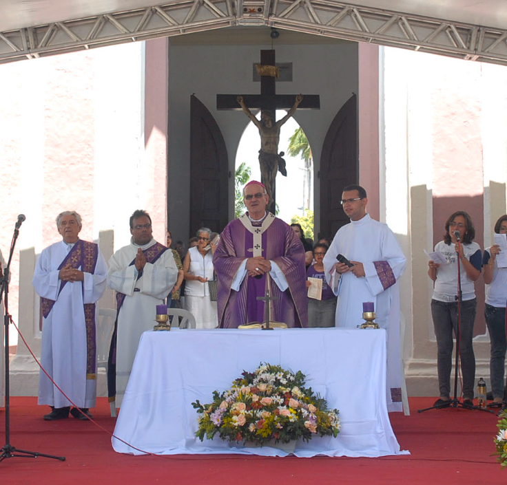
MULTIPOLYGON (((318 278, 322 281, 321 299, 308 297, 308 327, 334 327, 336 314, 336 297, 333 290, 327 285, 324 275, 324 264, 322 260, 327 252, 327 246, 317 243, 313 246, 313 257, 315 264, 307 270, 307 277, 318 278)), ((310 288, 311 281, 307 280, 307 288, 310 288)))

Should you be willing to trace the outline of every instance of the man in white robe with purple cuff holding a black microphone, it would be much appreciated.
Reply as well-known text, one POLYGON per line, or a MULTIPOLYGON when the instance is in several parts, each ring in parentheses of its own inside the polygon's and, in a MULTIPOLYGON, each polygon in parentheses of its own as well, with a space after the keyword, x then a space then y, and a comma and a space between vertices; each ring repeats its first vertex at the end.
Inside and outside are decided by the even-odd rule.
POLYGON ((393 231, 366 213, 368 198, 360 185, 343 189, 342 206, 351 219, 336 233, 324 257, 327 282, 338 295, 335 325, 364 323, 362 303, 373 302, 375 321, 387 330, 387 403, 402 411, 400 373, 400 291, 406 259, 393 231), (337 261, 342 255, 350 265, 337 261))

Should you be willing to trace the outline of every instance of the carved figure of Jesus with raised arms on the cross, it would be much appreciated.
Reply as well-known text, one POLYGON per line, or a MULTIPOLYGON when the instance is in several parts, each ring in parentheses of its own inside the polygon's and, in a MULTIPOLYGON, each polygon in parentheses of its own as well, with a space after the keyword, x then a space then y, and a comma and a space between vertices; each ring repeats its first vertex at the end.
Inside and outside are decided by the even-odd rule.
POLYGON ((243 96, 238 96, 236 100, 241 106, 243 112, 251 119, 259 130, 260 135, 260 150, 259 150, 259 165, 260 165, 260 176, 262 184, 265 184, 267 193, 270 200, 273 198, 273 192, 275 187, 275 177, 277 171, 287 177, 287 169, 285 169, 285 160, 282 158, 284 155, 283 151, 278 153, 278 143, 280 142, 280 127, 286 122, 300 105, 303 99, 302 94, 296 96, 296 101, 289 109, 287 114, 278 121, 273 120, 271 111, 262 110, 260 113, 260 120, 251 113, 247 105, 243 101, 243 96))

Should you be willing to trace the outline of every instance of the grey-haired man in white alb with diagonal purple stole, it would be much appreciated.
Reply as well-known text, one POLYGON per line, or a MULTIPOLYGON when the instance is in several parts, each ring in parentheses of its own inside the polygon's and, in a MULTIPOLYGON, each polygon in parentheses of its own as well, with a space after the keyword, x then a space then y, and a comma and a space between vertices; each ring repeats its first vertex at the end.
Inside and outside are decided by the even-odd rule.
POLYGON ((41 365, 76 407, 43 371, 39 405, 54 421, 91 418, 96 399, 96 305, 105 290, 107 266, 97 244, 79 239, 81 216, 65 211, 56 217, 63 240, 45 248, 35 265, 33 285, 41 297, 41 365))

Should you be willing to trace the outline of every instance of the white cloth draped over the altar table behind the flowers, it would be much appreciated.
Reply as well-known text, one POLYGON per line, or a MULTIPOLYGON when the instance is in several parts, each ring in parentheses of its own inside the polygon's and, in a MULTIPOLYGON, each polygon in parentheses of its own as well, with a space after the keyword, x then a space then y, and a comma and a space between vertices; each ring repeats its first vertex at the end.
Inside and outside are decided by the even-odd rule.
MULTIPOLYGON (((338 438, 299 441, 295 455, 399 455, 386 405, 386 332, 343 328, 171 330, 145 332, 125 391, 114 435, 148 453, 245 453, 284 456, 263 446, 229 446, 195 437, 192 402, 212 401, 243 370, 261 362, 307 375, 306 387, 340 411, 338 438)), ((112 438, 118 453, 142 453, 112 438)))

